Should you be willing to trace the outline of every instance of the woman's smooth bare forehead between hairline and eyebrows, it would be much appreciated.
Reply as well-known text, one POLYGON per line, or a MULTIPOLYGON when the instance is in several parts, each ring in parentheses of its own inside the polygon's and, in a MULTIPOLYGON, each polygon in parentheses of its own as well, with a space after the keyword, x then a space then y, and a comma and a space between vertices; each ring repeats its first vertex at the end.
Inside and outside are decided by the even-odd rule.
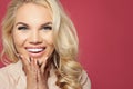
POLYGON ((35 3, 22 4, 16 13, 16 21, 18 20, 51 20, 52 11, 49 7, 43 7, 35 3))

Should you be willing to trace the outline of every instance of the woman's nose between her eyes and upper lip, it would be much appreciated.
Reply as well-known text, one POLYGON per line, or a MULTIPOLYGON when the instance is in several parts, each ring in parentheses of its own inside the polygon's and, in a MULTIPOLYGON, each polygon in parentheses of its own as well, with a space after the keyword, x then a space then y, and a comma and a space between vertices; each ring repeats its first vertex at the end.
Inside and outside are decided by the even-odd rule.
POLYGON ((32 44, 39 44, 42 43, 42 38, 39 33, 39 31, 32 31, 30 34, 30 43, 32 44))

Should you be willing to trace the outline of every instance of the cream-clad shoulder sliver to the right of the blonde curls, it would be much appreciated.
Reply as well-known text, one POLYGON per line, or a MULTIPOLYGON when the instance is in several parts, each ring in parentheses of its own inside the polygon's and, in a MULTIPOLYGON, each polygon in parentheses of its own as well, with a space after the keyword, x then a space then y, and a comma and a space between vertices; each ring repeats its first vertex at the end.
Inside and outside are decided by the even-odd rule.
POLYGON ((85 70, 82 71, 82 75, 80 77, 80 82, 81 82, 83 89, 91 89, 91 80, 85 70))

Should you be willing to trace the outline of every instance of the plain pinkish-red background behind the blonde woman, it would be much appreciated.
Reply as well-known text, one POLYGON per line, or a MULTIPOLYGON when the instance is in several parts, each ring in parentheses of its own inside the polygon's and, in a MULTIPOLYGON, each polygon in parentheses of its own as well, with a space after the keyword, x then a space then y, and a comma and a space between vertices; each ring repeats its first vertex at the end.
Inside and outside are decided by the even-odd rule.
MULTIPOLYGON (((8 2, 0 0, 0 20, 8 2)), ((133 89, 133 1, 61 2, 78 29, 80 62, 92 89, 133 89)))

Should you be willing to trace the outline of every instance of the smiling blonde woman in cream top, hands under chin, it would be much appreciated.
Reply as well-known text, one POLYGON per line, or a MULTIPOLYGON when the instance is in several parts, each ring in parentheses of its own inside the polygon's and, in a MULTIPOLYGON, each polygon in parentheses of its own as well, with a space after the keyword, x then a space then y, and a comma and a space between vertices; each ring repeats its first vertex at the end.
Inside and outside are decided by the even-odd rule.
POLYGON ((78 37, 58 0, 12 0, 2 22, 1 89, 90 89, 78 37), (3 60, 3 59, 2 59, 3 60))

